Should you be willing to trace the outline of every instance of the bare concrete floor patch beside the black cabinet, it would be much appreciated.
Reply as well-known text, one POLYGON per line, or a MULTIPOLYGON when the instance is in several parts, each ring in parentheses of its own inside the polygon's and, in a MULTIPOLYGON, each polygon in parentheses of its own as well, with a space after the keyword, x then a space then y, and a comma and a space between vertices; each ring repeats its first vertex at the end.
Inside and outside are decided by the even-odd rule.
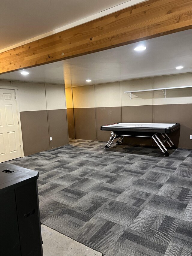
POLYGON ((101 252, 76 242, 54 229, 41 225, 44 256, 102 256, 101 252))

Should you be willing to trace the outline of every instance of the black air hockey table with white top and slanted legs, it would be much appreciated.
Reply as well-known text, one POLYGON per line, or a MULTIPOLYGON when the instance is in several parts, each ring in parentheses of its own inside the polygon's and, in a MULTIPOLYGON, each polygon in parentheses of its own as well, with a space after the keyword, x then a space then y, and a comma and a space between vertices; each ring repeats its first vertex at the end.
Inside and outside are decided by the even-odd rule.
POLYGON ((164 156, 170 156, 167 148, 164 145, 165 143, 167 143, 171 149, 177 150, 177 147, 167 134, 179 128, 179 123, 114 123, 101 126, 102 131, 111 131, 111 137, 107 142, 105 149, 109 149, 115 139, 117 139, 116 144, 122 143, 125 136, 148 137, 153 138, 155 143, 163 152, 164 156))

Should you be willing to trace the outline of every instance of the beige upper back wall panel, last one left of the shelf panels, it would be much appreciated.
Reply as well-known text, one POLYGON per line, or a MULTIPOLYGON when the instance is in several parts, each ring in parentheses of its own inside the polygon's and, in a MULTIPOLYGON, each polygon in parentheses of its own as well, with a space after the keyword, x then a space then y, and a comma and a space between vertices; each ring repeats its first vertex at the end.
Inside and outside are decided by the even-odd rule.
POLYGON ((95 86, 95 107, 120 107, 121 83, 100 84, 95 86))

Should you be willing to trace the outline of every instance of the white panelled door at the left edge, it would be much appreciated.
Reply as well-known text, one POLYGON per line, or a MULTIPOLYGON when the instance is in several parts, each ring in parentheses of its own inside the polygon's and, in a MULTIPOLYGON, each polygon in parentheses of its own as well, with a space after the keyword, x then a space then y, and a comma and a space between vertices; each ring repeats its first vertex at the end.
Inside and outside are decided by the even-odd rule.
POLYGON ((0 89, 0 163, 21 156, 15 90, 0 89))

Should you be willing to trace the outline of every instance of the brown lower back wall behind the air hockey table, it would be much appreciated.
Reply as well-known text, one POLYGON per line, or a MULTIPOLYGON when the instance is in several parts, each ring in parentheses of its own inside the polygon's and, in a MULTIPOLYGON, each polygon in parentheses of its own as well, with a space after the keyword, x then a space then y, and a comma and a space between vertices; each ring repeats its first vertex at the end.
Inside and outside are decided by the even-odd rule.
MULTIPOLYGON (((181 129, 170 134, 181 148, 192 149, 192 104, 167 104, 127 107, 76 108, 74 109, 77 139, 108 141, 110 132, 101 131, 100 126, 114 122, 150 122, 154 108, 154 122, 181 124, 181 129), (95 126, 96 116, 96 126, 95 126)), ((69 119, 68 119, 69 120, 69 119)), ((70 131, 69 131, 70 133, 70 131)), ((124 143, 155 145, 152 139, 128 137, 124 143)))

